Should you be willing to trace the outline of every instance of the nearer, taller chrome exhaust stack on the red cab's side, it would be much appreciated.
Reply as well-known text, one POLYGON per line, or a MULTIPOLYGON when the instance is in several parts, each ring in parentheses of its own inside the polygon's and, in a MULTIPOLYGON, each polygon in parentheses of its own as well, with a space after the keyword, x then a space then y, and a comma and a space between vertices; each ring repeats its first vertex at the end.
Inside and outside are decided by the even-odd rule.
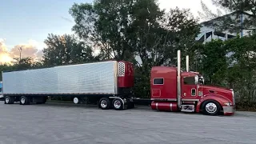
POLYGON ((177 53, 177 62, 178 62, 178 68, 177 68, 177 102, 178 102, 178 109, 181 109, 182 105, 182 90, 181 90, 181 50, 178 50, 177 53))

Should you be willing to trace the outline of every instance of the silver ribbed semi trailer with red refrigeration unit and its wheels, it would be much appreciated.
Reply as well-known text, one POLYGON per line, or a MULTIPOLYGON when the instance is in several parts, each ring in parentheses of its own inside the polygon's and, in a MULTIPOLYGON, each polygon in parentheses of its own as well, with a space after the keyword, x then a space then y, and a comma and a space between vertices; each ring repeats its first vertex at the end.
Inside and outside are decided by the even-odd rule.
POLYGON ((134 70, 130 62, 94 62, 35 70, 2 72, 2 95, 6 104, 45 103, 48 96, 67 96, 78 103, 85 97, 102 109, 133 106, 134 70), (129 105, 130 104, 130 105, 129 105))

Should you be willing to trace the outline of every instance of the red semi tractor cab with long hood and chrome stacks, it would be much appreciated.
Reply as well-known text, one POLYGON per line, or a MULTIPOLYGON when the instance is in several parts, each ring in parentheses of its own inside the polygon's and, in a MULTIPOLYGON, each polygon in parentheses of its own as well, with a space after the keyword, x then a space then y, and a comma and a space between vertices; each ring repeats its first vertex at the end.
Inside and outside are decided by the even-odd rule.
POLYGON ((153 110, 202 112, 209 115, 234 114, 234 90, 205 86, 202 74, 181 70, 181 53, 178 50, 178 67, 154 66, 150 73, 150 98, 153 110))

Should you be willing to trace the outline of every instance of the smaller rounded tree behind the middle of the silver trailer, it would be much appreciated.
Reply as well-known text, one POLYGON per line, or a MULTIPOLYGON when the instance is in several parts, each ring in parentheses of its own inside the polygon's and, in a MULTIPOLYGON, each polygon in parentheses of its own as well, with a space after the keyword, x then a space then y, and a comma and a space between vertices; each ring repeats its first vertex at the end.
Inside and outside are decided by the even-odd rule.
POLYGON ((43 63, 46 66, 59 66, 70 63, 92 62, 93 50, 85 42, 78 42, 74 35, 49 34, 45 40, 43 63))

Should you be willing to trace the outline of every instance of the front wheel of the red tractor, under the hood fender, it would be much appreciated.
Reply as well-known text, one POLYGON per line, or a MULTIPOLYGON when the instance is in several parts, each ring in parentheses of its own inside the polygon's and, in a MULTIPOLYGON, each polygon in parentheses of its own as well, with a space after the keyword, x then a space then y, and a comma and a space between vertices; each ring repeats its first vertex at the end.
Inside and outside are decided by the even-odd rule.
POLYGON ((207 100, 202 103, 202 113, 206 115, 218 115, 221 110, 220 104, 214 100, 207 100))

